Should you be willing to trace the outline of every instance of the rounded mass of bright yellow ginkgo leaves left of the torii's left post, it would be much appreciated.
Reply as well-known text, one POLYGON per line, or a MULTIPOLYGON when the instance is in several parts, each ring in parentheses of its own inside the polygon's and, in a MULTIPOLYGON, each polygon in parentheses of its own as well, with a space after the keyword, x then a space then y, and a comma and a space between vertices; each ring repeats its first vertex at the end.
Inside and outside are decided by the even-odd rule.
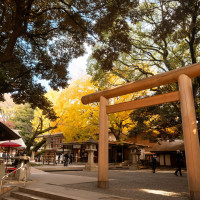
MULTIPOLYGON (((98 104, 83 105, 81 97, 96 92, 89 77, 82 77, 64 89, 54 106, 59 116, 58 128, 54 132, 62 132, 66 142, 83 141, 98 133, 98 104)), ((57 123, 57 122, 56 122, 57 123)))

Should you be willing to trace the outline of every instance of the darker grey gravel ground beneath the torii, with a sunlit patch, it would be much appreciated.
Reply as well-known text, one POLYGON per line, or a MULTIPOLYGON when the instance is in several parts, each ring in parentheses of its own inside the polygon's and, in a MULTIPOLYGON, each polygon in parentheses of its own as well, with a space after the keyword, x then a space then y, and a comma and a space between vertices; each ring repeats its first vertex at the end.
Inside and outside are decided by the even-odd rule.
MULTIPOLYGON (((97 172, 56 171, 54 174, 98 177, 97 172)), ((97 183, 64 185, 66 188, 102 192, 134 200, 188 200, 187 174, 176 177, 173 171, 109 170, 109 188, 100 189, 97 183)), ((117 200, 117 198, 114 198, 117 200)))

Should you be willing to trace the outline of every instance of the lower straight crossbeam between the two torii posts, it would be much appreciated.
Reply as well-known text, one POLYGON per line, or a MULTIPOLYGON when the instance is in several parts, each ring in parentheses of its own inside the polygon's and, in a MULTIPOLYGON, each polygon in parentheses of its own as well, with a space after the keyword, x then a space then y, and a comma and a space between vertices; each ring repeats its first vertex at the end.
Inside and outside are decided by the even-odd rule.
POLYGON ((115 112, 121 112, 125 110, 132 110, 136 108, 143 108, 143 107, 148 107, 148 106, 153 106, 153 105, 158 105, 158 104, 163 104, 163 103, 169 103, 173 101, 179 101, 179 92, 170 92, 167 94, 161 94, 161 95, 156 95, 152 97, 147 97, 144 99, 139 99, 135 101, 129 101, 125 103, 119 103, 115 105, 110 105, 106 107, 106 113, 115 113, 115 112))

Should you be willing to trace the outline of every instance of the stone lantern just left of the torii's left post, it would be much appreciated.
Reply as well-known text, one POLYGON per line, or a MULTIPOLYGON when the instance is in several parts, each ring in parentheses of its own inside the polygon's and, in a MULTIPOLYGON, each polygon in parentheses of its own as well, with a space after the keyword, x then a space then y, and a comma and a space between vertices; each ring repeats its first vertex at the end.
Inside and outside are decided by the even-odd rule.
POLYGON ((97 171, 97 165, 94 163, 94 152, 97 151, 96 144, 97 142, 91 136, 89 140, 85 142, 86 149, 88 152, 88 162, 85 165, 85 171, 97 171))

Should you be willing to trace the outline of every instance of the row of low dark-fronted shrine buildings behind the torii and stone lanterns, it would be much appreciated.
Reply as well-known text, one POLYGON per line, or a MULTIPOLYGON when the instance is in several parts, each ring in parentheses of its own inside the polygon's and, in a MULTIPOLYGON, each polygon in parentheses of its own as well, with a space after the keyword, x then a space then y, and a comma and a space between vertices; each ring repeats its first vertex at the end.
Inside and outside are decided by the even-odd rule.
MULTIPOLYGON (((51 160, 58 162, 59 159, 62 161, 62 156, 68 153, 69 155, 72 154, 73 162, 87 162, 86 144, 84 142, 65 143, 62 133, 47 134, 40 137, 47 138, 47 154, 52 153, 54 155, 51 160)), ((151 157, 153 153, 156 153, 160 166, 174 167, 176 165, 176 150, 184 151, 182 140, 155 142, 151 141, 144 133, 128 138, 127 141, 117 142, 114 135, 109 134, 109 163, 122 163, 131 160, 130 154, 133 145, 136 145, 140 152, 138 161, 147 166, 151 165, 151 157)), ((46 154, 44 156, 47 157, 46 154)), ((98 162, 98 143, 97 151, 94 152, 94 162, 98 162)))

